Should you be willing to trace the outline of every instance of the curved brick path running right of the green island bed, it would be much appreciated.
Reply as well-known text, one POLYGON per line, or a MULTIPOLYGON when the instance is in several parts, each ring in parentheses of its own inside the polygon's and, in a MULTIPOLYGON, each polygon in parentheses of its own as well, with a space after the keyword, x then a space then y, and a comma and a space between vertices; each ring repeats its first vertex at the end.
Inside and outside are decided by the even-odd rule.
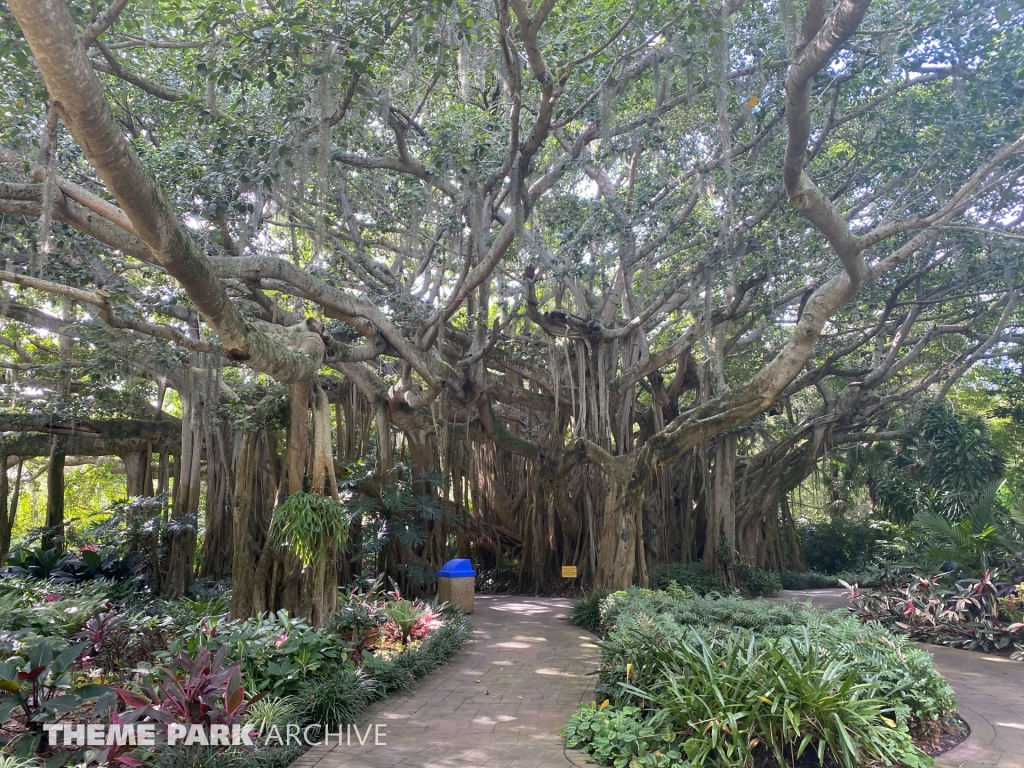
MULTIPOLYGON (((821 608, 849 604, 846 590, 783 592, 781 599, 810 600, 821 608)), ((935 656, 971 726, 966 741, 935 759, 936 768, 1024 768, 1024 663, 942 645, 920 647, 935 656)))

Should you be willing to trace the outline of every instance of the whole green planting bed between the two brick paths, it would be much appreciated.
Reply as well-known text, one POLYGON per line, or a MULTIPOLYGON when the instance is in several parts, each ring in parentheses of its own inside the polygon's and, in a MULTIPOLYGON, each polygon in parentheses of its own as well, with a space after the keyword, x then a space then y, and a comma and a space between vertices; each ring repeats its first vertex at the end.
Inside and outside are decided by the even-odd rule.
POLYGON ((598 698, 563 735, 602 764, 930 765, 952 714, 926 652, 842 611, 633 588, 570 618, 595 602, 598 698))

